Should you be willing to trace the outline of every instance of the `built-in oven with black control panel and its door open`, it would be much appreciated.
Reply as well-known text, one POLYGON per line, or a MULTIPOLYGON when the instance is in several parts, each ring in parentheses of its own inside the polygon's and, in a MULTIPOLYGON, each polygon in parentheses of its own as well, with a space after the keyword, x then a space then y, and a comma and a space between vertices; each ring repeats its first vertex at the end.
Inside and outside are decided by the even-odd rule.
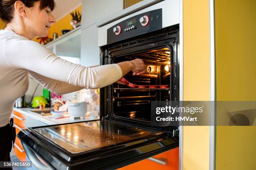
POLYGON ((178 0, 164 0, 101 25, 101 65, 141 58, 145 73, 124 76, 135 87, 100 89, 100 120, 21 130, 38 169, 116 169, 179 147, 178 125, 151 120, 152 101, 179 100, 178 11, 178 0))

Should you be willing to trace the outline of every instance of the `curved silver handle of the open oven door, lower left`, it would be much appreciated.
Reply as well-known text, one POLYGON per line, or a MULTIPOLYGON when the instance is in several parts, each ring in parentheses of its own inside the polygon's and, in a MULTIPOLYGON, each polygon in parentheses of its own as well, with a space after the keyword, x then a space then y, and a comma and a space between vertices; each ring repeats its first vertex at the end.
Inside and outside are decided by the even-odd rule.
POLYGON ((38 169, 38 170, 52 170, 49 166, 45 165, 44 163, 42 163, 36 156, 35 153, 33 153, 33 151, 28 148, 28 146, 26 144, 23 144, 23 149, 26 152, 26 155, 28 156, 28 159, 31 160, 31 162, 33 163, 33 165, 38 169))

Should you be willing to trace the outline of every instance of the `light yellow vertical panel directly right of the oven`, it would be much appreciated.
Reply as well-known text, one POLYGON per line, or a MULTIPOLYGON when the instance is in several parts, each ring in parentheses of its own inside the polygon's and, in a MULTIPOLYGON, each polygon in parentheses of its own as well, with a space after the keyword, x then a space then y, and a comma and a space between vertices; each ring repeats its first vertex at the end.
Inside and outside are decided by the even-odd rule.
MULTIPOLYGON (((184 100, 210 99, 209 1, 183 0, 184 100)), ((184 126, 183 170, 209 169, 209 126, 184 126)))

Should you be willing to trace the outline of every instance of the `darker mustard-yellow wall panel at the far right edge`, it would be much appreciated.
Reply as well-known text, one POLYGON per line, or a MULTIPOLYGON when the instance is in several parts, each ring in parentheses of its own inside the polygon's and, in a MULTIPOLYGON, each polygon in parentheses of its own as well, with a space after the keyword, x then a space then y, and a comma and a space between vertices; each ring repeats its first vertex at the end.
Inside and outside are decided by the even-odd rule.
MULTIPOLYGON (((255 30, 255 0, 215 0, 217 100, 256 101, 255 30)), ((255 141, 256 126, 218 126, 216 170, 255 170, 255 141)))

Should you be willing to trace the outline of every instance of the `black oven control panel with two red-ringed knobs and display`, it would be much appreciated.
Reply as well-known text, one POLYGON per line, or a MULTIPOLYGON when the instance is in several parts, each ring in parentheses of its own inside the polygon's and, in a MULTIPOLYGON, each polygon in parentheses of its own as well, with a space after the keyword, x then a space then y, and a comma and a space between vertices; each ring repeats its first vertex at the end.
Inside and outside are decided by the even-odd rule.
POLYGON ((109 28, 107 31, 108 44, 125 40, 137 35, 160 30, 162 28, 162 9, 142 13, 109 28))

